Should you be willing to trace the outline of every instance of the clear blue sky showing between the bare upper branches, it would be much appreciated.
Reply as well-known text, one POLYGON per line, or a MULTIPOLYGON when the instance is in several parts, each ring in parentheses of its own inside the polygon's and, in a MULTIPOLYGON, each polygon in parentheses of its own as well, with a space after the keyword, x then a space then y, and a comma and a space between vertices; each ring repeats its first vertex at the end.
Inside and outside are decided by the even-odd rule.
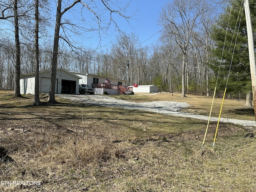
MULTIPOLYGON (((120 16, 114 16, 114 19, 116 23, 118 24, 118 27, 120 30, 123 32, 126 32, 128 34, 134 33, 136 36, 138 36, 139 42, 138 44, 141 44, 141 46, 147 46, 149 44, 153 44, 156 42, 160 36, 160 33, 156 34, 159 30, 161 30, 161 26, 158 26, 157 20, 159 18, 159 13, 162 9, 162 7, 170 0, 119 0, 120 2, 123 3, 123 6, 127 4, 127 2, 130 2, 129 7, 127 8, 126 15, 132 16, 132 18, 129 20, 130 25, 124 18, 121 18, 120 16), (154 35, 156 34, 156 35, 154 35), (154 35, 154 36, 153 36, 154 35), (152 38, 150 38, 153 36, 152 38), (150 39, 148 39, 150 38, 150 39)), ((97 1, 95 1, 97 2, 97 1)), ((115 2, 115 1, 114 1, 115 2)), ((100 2, 99 2, 100 3, 100 2)), ((52 19, 51 19, 51 27, 48 29, 48 38, 53 38, 54 37, 54 26, 55 26, 55 15, 56 15, 56 2, 52 2, 52 19)), ((63 4, 64 7, 64 4, 63 4)), ((64 14, 64 17, 70 19, 71 21, 74 21, 74 16, 79 16, 79 11, 81 9, 80 5, 77 5, 74 7, 71 12, 66 12, 64 14)), ((108 15, 108 14, 107 14, 108 15)), ((88 15, 86 15, 87 17, 88 15)), ((95 23, 94 23, 95 24, 95 23)), ((1 28, 10 28, 10 23, 2 23, 1 28)), ((7 30, 7 32, 10 32, 7 30)), ((10 33, 8 36, 12 36, 13 33, 10 33)), ((72 32, 70 33, 72 34, 72 32)), ((78 37, 78 43, 80 46, 84 46, 86 48, 99 48, 100 44, 102 46, 102 50, 110 50, 112 43, 115 42, 116 36, 118 35, 118 32, 115 31, 112 28, 108 30, 108 35, 103 35, 100 41, 99 35, 97 31, 94 32, 85 32, 83 34, 87 38, 79 38, 78 37), (99 43, 100 42, 100 43, 99 43)), ((13 37, 14 39, 14 37, 13 37)), ((42 42, 44 42, 44 38, 41 39, 42 42)), ((61 42, 60 42, 61 43, 61 42)), ((79 46, 79 45, 78 45, 79 46)))

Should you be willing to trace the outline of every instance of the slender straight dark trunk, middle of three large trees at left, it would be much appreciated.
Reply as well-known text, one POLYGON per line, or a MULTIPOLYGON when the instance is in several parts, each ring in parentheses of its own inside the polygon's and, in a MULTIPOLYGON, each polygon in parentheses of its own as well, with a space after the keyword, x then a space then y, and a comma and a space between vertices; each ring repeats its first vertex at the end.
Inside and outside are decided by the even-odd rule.
POLYGON ((38 45, 38 27, 39 27, 39 19, 38 19, 38 0, 35 0, 35 61, 36 61, 36 69, 35 69, 35 95, 34 95, 34 105, 40 104, 39 98, 39 45, 38 45))

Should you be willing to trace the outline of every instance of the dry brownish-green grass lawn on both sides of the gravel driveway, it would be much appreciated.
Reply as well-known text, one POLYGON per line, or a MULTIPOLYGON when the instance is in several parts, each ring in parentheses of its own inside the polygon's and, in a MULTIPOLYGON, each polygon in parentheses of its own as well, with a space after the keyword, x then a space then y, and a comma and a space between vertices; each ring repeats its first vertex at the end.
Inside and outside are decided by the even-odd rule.
MULTIPOLYGON (((73 103, 32 106, 0 91, 0 162, 3 192, 231 192, 256 190, 254 127, 211 123, 137 110, 73 103), (28 182, 15 184, 14 182, 28 182), (33 184, 30 182, 34 182, 33 184), (9 183, 8 183, 9 182, 9 183), (38 185, 40 184, 40 185, 38 185)), ((205 114, 212 99, 180 94, 115 96, 132 102, 187 102, 184 111, 205 114)), ((221 99, 220 99, 221 100, 221 99)), ((219 104, 216 99, 216 108, 219 104)), ((244 102, 224 101, 224 115, 253 120, 244 102)), ((218 116, 219 112, 214 112, 218 116)))

